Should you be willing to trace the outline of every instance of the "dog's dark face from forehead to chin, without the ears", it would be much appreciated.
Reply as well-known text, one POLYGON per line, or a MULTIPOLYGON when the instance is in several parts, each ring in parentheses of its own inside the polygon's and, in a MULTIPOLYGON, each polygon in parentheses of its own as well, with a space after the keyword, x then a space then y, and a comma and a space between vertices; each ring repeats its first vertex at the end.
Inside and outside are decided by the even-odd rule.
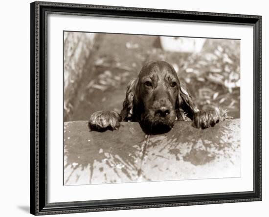
POLYGON ((166 62, 149 62, 143 66, 134 89, 133 112, 144 128, 170 130, 177 117, 179 79, 166 62))

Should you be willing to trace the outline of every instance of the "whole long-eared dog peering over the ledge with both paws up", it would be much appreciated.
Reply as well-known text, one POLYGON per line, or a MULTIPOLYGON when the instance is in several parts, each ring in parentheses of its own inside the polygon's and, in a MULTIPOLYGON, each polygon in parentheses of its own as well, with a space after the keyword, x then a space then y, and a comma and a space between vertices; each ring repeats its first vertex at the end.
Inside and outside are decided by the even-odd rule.
POLYGON ((172 65, 164 61, 146 63, 138 77, 129 82, 120 114, 96 111, 90 130, 117 130, 120 121, 139 122, 147 134, 171 130, 175 121, 192 120, 196 128, 213 127, 226 119, 223 109, 199 110, 188 90, 179 82, 172 65))

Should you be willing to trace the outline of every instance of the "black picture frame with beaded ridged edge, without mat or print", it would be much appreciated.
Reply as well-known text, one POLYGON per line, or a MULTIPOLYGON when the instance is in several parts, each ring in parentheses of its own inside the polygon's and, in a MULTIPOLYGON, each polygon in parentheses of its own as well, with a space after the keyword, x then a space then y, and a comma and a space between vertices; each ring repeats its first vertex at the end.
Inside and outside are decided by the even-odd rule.
POLYGON ((262 16, 35 1, 30 4, 30 213, 49 215, 262 200, 262 16), (254 32, 253 191, 47 202, 47 14, 251 25, 254 32))

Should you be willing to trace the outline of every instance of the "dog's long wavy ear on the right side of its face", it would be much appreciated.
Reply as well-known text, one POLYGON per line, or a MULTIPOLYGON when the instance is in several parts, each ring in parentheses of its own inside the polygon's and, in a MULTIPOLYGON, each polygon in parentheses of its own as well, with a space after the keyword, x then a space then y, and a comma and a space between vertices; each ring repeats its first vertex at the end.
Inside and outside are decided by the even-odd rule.
POLYGON ((199 109, 194 103, 194 100, 189 92, 189 90, 182 84, 179 85, 179 108, 178 119, 185 120, 186 116, 193 119, 194 113, 198 112, 199 109))

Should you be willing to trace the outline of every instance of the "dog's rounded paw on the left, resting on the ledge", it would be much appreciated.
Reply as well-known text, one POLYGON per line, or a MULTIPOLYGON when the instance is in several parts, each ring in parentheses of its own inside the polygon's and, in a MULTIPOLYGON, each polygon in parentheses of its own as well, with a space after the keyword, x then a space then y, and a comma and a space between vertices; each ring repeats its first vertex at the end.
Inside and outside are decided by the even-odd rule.
POLYGON ((118 130, 121 117, 115 111, 96 111, 90 116, 90 130, 118 130))

